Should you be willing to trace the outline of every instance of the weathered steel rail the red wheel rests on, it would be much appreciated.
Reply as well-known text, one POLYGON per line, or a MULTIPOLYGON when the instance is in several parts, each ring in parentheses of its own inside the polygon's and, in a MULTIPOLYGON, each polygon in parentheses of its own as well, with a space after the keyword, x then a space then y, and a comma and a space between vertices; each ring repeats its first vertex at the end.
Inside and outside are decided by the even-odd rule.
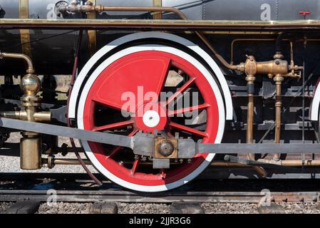
MULTIPOLYGON (((165 193, 137 193, 123 190, 57 190, 57 202, 317 202, 320 192, 192 192, 175 191, 165 193)), ((0 190, 0 202, 23 201, 26 199, 46 202, 47 190, 0 190)))

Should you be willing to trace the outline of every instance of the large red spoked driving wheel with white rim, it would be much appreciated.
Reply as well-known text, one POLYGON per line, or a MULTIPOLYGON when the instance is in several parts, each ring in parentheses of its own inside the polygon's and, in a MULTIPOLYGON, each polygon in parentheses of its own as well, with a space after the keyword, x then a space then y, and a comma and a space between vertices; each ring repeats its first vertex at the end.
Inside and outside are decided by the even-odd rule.
MULTIPOLYGON (((220 115, 224 115, 221 110, 224 107, 217 99, 220 91, 212 75, 208 79, 195 63, 178 56, 177 49, 171 49, 172 53, 155 48, 133 51, 105 66, 88 86, 90 89, 81 94, 85 98, 80 110, 83 128, 129 136, 157 130, 168 137, 179 133, 180 137, 215 142, 221 131, 220 115), (170 80, 177 83, 170 85, 170 80), (179 100, 185 100, 187 94, 192 94, 193 100, 181 107, 179 100), (197 122, 199 119, 204 123, 197 122)), ((192 160, 172 161, 170 169, 153 170, 151 157, 136 156, 123 147, 97 142, 85 144, 93 165, 100 172, 105 171, 106 177, 124 187, 146 192, 185 184, 213 158, 201 154, 192 160)))

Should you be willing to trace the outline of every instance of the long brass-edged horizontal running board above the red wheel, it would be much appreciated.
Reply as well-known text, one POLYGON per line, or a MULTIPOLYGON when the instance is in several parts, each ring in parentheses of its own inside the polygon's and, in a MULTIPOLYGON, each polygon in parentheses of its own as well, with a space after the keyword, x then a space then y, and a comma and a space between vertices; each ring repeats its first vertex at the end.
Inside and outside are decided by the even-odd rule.
POLYGON ((274 30, 274 29, 319 29, 320 20, 296 21, 198 21, 198 20, 125 20, 125 19, 0 19, 0 28, 48 28, 48 29, 106 29, 128 28, 144 30, 180 29, 192 30, 274 30))

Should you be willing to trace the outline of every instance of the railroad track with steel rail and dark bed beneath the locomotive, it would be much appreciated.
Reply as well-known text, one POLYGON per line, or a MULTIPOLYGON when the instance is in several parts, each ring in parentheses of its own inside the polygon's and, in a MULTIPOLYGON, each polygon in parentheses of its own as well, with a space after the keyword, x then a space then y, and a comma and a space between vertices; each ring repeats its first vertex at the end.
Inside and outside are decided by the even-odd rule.
POLYGON ((316 189, 319 183, 319 180, 195 180, 169 192, 141 193, 108 181, 98 187, 83 174, 6 173, 0 177, 0 202, 16 202, 14 208, 27 208, 29 212, 34 212, 35 204, 53 198, 55 202, 93 205, 101 202, 170 204, 174 212, 183 208, 192 212, 199 211, 201 203, 320 202, 320 191, 316 189))

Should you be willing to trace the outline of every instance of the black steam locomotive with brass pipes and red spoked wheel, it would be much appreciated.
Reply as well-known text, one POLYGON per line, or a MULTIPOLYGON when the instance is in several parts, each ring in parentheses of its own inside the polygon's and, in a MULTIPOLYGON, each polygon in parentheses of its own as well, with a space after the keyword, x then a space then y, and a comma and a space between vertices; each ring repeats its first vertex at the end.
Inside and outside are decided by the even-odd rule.
POLYGON ((1 0, 1 145, 19 131, 21 169, 93 165, 142 192, 210 164, 220 177, 319 177, 319 19, 317 0, 1 0), (257 150, 237 155, 244 144, 257 150), (68 152, 88 160, 55 157, 68 152))

